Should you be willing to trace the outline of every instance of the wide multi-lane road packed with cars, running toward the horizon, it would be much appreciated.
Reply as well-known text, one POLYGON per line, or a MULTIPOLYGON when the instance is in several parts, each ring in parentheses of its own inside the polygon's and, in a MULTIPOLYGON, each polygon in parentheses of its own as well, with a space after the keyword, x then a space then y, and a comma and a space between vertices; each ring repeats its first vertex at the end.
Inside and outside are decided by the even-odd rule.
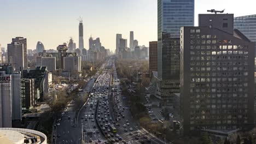
POLYGON ((121 94, 114 59, 108 59, 101 69, 83 88, 90 97, 77 119, 74 104, 68 106, 56 127, 56 143, 164 143, 139 128, 132 118, 127 97, 121 94))

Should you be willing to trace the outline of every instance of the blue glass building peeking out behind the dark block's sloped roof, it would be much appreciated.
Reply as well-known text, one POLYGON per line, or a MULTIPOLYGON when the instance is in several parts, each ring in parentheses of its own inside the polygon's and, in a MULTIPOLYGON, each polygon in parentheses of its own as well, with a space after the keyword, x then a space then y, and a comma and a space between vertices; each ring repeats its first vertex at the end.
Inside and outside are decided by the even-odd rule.
POLYGON ((238 29, 255 43, 254 55, 256 57, 256 15, 234 17, 234 28, 238 29))

